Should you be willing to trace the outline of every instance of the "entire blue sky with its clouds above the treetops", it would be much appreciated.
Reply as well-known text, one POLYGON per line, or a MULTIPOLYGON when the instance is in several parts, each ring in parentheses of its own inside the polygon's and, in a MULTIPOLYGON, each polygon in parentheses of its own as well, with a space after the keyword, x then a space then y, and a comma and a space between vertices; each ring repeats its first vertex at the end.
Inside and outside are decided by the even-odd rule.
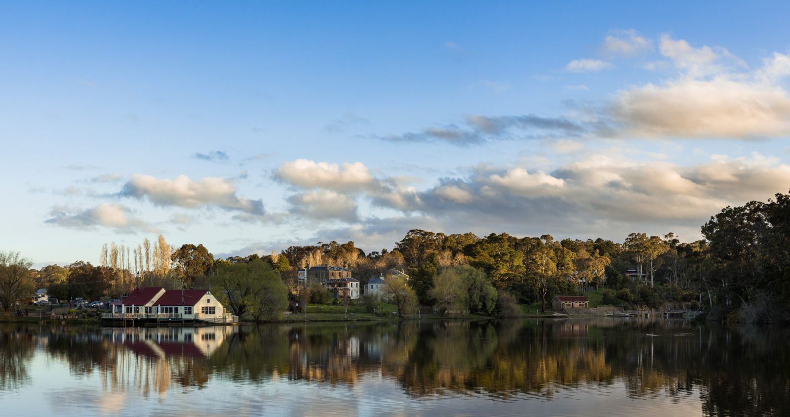
POLYGON ((790 189, 781 2, 4 2, 0 250, 698 239, 790 189))

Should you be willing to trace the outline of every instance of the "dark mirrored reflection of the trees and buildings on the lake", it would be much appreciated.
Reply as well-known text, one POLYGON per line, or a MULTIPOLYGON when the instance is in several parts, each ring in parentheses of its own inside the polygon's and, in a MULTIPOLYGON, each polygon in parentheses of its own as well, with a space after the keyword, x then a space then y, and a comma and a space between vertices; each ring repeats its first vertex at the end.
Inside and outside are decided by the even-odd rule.
MULTIPOLYGON (((4 325, 0 403, 3 392, 46 378, 31 370, 43 356, 67 364, 72 380, 96 378, 102 395, 116 399, 213 396, 279 382, 315 393, 364 392, 391 382, 389 391, 418 406, 483 399, 514 414, 530 399, 560 404, 621 393, 623 407, 643 406, 622 414, 681 404, 702 415, 788 415, 787 336, 777 329, 604 317, 137 329, 4 325)), ((582 409, 578 414, 595 414, 582 409)))

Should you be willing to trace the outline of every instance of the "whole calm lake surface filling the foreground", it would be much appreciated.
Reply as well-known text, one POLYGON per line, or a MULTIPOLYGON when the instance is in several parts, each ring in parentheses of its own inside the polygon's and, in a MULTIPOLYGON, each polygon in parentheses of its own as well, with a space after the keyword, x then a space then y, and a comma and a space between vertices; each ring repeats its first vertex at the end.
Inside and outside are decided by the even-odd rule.
POLYGON ((781 329, 591 318, 0 324, 2 415, 790 415, 781 329))

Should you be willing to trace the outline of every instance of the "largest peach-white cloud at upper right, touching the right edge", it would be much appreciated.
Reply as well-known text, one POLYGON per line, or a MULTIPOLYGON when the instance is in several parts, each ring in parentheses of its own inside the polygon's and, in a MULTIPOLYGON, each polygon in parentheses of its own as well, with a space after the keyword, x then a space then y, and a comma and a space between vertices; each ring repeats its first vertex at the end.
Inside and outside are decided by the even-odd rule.
POLYGON ((780 81, 790 57, 773 54, 760 69, 720 47, 693 47, 662 36, 661 54, 680 76, 618 92, 611 115, 620 137, 724 137, 790 135, 790 96, 780 81))

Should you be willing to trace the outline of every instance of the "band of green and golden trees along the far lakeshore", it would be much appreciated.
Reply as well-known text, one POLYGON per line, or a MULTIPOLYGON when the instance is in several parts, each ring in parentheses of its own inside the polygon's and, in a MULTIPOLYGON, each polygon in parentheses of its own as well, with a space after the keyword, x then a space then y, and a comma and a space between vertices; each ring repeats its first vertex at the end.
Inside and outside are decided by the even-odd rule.
POLYGON ((389 280, 386 286, 390 295, 397 293, 396 298, 403 299, 404 311, 430 305, 491 314, 495 310, 491 306, 502 296, 540 303, 545 310, 555 295, 604 287, 604 302, 613 305, 686 302, 713 317, 781 321, 788 318, 784 311, 790 305, 788 222, 790 195, 778 193, 766 202, 722 209, 702 226, 704 239, 694 242, 680 242, 672 232, 661 236, 635 232, 620 243, 414 229, 392 250, 367 254, 354 242, 333 241, 290 246, 279 254, 215 259, 203 245, 171 246, 160 235, 153 245, 148 239, 137 246, 104 245, 99 266, 77 261, 65 268, 49 265, 30 270, 23 257, 3 253, 0 302, 8 308, 35 287, 49 288, 58 299, 97 299, 127 294, 144 284, 220 286, 235 297, 227 300, 237 306, 235 310, 262 311, 258 302, 242 296, 249 292, 243 287, 258 294, 255 291, 267 287, 258 281, 276 277, 282 287, 276 285, 275 292, 294 301, 321 302, 328 297, 325 291, 300 287, 297 271, 308 265, 336 265, 352 269, 362 286, 391 269, 407 274, 408 280, 389 280), (627 269, 634 272, 626 276, 627 269))

